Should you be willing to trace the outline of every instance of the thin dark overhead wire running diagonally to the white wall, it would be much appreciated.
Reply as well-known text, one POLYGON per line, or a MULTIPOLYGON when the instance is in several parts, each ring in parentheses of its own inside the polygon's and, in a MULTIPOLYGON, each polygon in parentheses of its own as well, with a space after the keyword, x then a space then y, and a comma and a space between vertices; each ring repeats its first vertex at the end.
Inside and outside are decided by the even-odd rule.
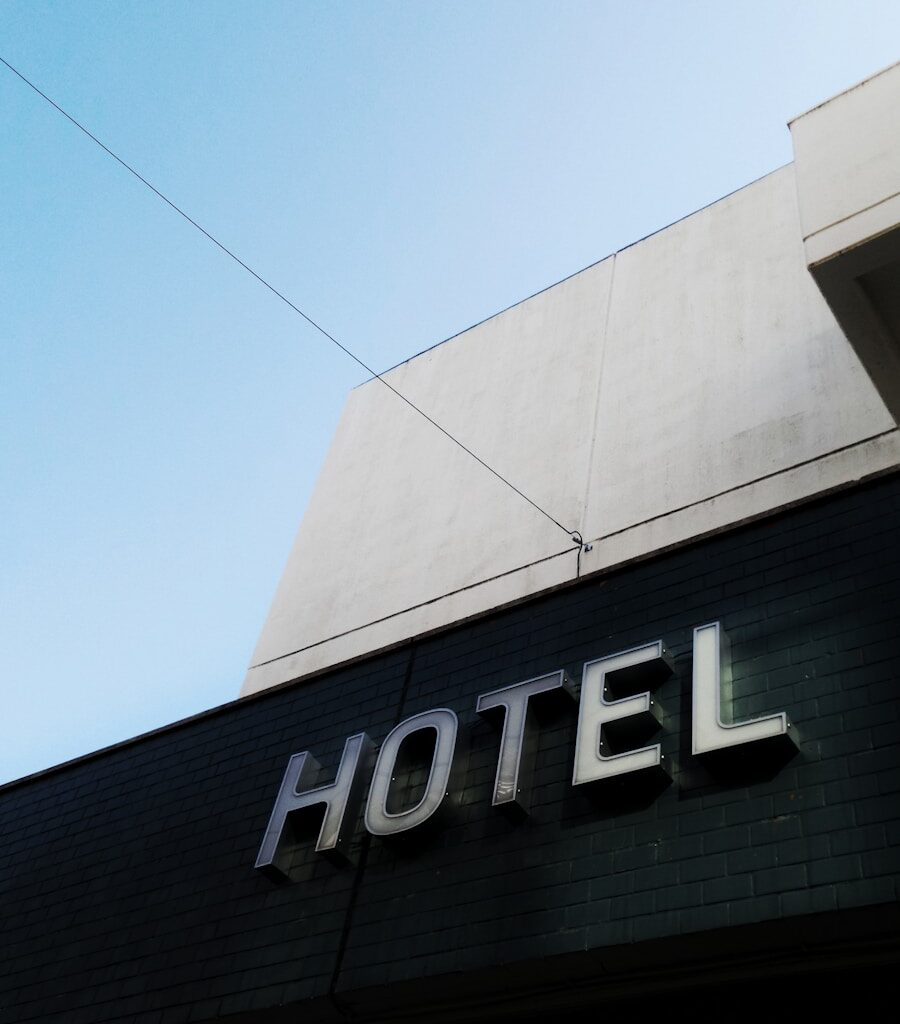
POLYGON ((48 102, 55 111, 61 114, 62 117, 65 117, 68 121, 70 121, 73 125, 75 125, 75 127, 78 128, 79 131, 87 135, 87 137, 92 142, 96 143, 103 151, 103 153, 112 157, 113 160, 116 161, 116 163, 124 167, 129 174, 133 175, 135 178, 137 178, 138 181, 141 182, 141 184, 149 188, 149 190, 155 196, 161 199, 168 207, 174 210, 175 213, 177 213, 180 217, 186 220, 188 224, 190 224, 192 227, 196 227, 197 230, 201 232, 201 234, 203 234, 206 239, 212 242, 212 244, 216 246, 219 250, 221 250, 221 252, 223 252, 226 256, 230 257, 239 266, 243 267, 251 276, 255 278, 260 285, 262 285, 264 288, 267 288, 272 293, 272 295, 281 299, 282 302, 284 302, 291 309, 293 309, 294 312, 297 313, 299 316, 302 316, 303 319, 306 321, 306 323, 310 327, 312 327, 315 331, 317 331, 324 338, 327 338, 333 345, 336 345, 345 355, 349 356, 357 366, 361 367, 362 370, 365 370, 368 374, 370 374, 372 378, 380 381, 389 391, 392 391, 401 401, 405 402, 406 406, 410 407, 410 409, 418 413, 419 416, 421 416, 424 420, 430 423, 432 427, 434 427, 436 430, 439 430, 440 433, 444 435, 444 437, 453 441, 454 444, 462 449, 463 452, 465 452, 467 455, 471 456, 480 466, 483 466, 484 469, 486 469, 489 473, 491 473, 495 477, 497 477, 498 480, 505 483, 508 487, 514 490, 519 496, 519 498, 526 501, 533 509, 540 512, 541 515, 549 519, 555 526, 558 526, 564 534, 566 534, 569 537, 569 539, 573 544, 576 544, 578 545, 578 547, 581 547, 581 545, 583 544, 583 540, 582 540, 582 535, 577 530, 569 529, 567 526, 564 526, 557 518, 552 516, 545 508, 542 508, 542 506, 540 506, 535 501, 529 498, 523 490, 520 490, 511 480, 507 479, 502 473, 498 472, 498 470, 496 470, 492 466, 488 465, 488 463, 486 463, 479 455, 477 455, 470 447, 464 444, 458 437, 454 436, 454 434, 452 434, 445 427, 441 426, 441 424, 439 424, 436 420, 434 420, 431 416, 429 416, 428 413, 426 413, 423 409, 420 409, 420 407, 417 406, 411 398, 408 398, 406 395, 404 395, 401 391, 395 388, 393 384, 390 383, 390 381, 386 380, 381 374, 373 370, 372 367, 370 367, 361 358, 359 358, 359 356, 356 355, 354 352, 352 352, 346 345, 338 341, 338 339, 333 334, 330 334, 328 331, 326 331, 326 329, 320 324, 314 321, 310 315, 308 315, 308 313, 305 313, 298 305, 292 302, 283 292, 280 292, 278 289, 276 289, 274 285, 266 281, 266 279, 263 278, 262 274, 257 273, 257 271, 254 270, 252 266, 245 263, 244 260, 241 259, 241 257, 238 256, 234 252, 232 252, 226 245, 224 245, 224 243, 220 242, 202 224, 198 223, 189 214, 185 213, 185 211, 182 210, 181 207, 173 203, 172 200, 170 200, 168 196, 160 191, 160 189, 157 188, 156 185, 147 181, 147 179, 139 171, 137 171, 134 167, 132 167, 131 164, 127 163, 118 154, 114 153, 105 143, 101 142, 96 135, 94 135, 89 129, 87 129, 80 121, 74 118, 68 111, 63 110, 54 99, 48 96, 40 88, 38 88, 38 86, 35 85, 35 83, 32 82, 29 78, 27 78, 20 71, 18 71, 18 69, 14 68, 11 63, 9 63, 8 60, 5 60, 2 55, 0 55, 0 63, 3 63, 9 71, 12 72, 13 75, 19 78, 30 89, 36 92, 42 99, 46 100, 46 102, 48 102))

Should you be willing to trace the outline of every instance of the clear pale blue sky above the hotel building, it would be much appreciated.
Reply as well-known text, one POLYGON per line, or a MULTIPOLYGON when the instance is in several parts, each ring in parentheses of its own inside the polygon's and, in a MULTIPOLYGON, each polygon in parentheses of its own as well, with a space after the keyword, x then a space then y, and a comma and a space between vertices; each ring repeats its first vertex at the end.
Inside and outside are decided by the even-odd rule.
MULTIPOLYGON (((0 0, 0 55, 384 369, 787 163, 900 4, 0 0)), ((0 112, 2 781, 237 696, 363 375, 0 112)))

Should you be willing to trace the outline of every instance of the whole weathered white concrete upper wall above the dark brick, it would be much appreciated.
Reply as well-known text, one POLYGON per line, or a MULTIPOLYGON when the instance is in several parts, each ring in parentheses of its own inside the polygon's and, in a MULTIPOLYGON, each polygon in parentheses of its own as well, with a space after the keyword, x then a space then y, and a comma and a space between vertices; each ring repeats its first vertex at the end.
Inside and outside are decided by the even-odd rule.
POLYGON ((356 388, 242 692, 900 466, 808 269, 799 187, 806 210, 788 165, 386 375, 585 550, 379 381, 356 388))

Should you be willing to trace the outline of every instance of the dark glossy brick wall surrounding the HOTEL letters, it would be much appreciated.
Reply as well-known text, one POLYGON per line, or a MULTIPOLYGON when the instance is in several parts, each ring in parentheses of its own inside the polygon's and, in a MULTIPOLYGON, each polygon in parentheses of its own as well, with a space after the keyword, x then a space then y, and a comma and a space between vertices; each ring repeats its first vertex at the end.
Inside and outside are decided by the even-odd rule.
POLYGON ((7 786, 0 1021, 365 1015, 363 991, 894 904, 898 536, 892 476, 7 786), (736 714, 797 726, 777 770, 723 779, 690 756, 691 634, 716 618, 736 714), (477 695, 657 638, 673 784, 572 788, 572 703, 542 723, 531 816, 492 810, 477 695), (290 754, 334 770, 351 732, 380 742, 438 706, 470 743, 443 827, 400 846, 359 828, 345 868, 307 842, 289 885, 253 870, 290 754))

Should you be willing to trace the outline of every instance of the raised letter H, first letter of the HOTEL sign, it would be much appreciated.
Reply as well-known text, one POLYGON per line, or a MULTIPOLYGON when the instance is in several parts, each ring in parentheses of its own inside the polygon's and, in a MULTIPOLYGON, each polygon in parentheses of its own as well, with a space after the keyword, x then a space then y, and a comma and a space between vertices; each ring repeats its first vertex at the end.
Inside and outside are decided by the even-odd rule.
POLYGON ((288 844, 284 842, 289 818, 305 807, 325 804, 325 818, 315 843, 317 853, 342 855, 359 807, 361 771, 372 763, 375 746, 365 732, 344 743, 337 778, 316 785, 322 765, 308 752, 294 754, 288 762, 275 806, 259 848, 256 867, 274 879, 288 877, 288 844))

